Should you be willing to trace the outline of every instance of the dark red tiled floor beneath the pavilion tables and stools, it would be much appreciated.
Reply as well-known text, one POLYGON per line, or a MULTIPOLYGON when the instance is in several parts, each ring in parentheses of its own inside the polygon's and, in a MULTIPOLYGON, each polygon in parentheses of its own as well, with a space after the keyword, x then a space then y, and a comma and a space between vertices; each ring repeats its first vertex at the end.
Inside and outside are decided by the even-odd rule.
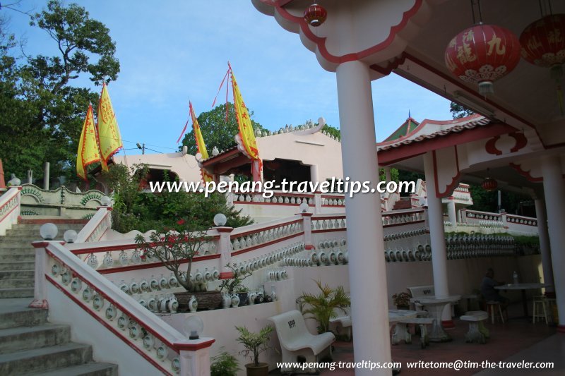
MULTIPOLYGON (((518 310, 521 307, 518 307, 518 310)), ((511 317, 513 310, 511 312, 511 317)), ((469 362, 482 363, 484 360, 489 362, 513 361, 521 362, 555 362, 553 370, 519 370, 513 369, 501 372, 501 370, 489 370, 481 372, 482 376, 490 375, 565 375, 565 334, 556 334, 554 327, 547 327, 542 323, 532 324, 524 319, 511 319, 506 324, 487 324, 491 337, 487 344, 467 344, 465 343, 465 333, 468 331, 468 324, 460 320, 454 320, 456 327, 448 330, 453 341, 446 343, 432 343, 429 347, 422 350, 420 348, 420 338, 414 336, 412 344, 401 342, 397 346, 392 346, 393 360, 403 363, 400 375, 474 375, 481 372, 482 368, 461 369, 408 369, 407 362, 435 361, 453 362, 454 360, 465 360, 469 362)), ((353 345, 351 342, 336 342, 333 351, 333 360, 352 362, 353 345)), ((276 373, 273 372, 276 375, 276 373)), ((324 370, 321 375, 355 375, 353 370, 324 370)))

